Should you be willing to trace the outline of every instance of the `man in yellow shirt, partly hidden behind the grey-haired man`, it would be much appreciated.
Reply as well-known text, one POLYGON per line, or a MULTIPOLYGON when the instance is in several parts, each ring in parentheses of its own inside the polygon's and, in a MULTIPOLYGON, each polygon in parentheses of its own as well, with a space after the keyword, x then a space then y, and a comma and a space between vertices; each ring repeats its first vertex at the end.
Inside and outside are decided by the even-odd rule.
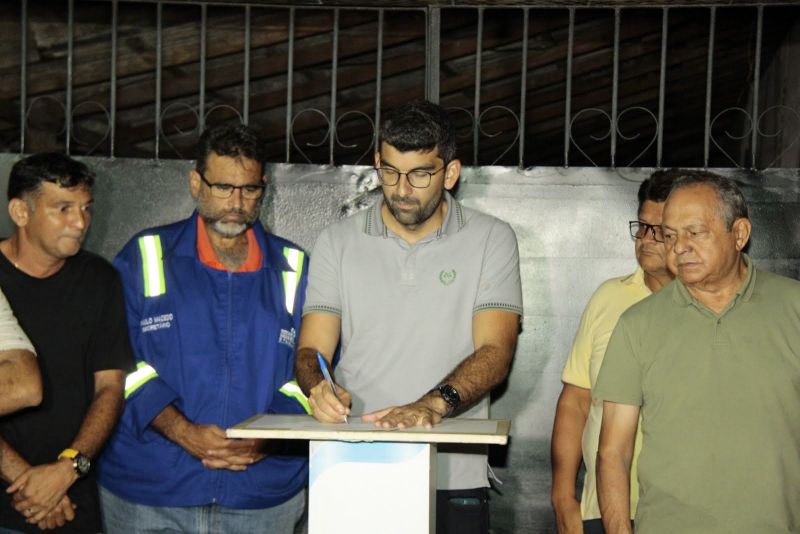
MULTIPOLYGON (((561 375, 564 387, 558 399, 551 442, 551 498, 560 534, 604 532, 595 482, 603 403, 592 400, 591 390, 620 315, 673 279, 666 266, 661 214, 672 182, 681 174, 686 173, 657 171, 642 182, 638 194, 638 217, 629 223, 639 267, 633 274, 603 282, 595 291, 583 312, 564 366, 561 375), (586 476, 579 502, 575 483, 581 461, 586 466, 586 476)), ((637 432, 631 470, 631 518, 636 513, 638 500, 636 457, 640 445, 641 433, 637 432)))

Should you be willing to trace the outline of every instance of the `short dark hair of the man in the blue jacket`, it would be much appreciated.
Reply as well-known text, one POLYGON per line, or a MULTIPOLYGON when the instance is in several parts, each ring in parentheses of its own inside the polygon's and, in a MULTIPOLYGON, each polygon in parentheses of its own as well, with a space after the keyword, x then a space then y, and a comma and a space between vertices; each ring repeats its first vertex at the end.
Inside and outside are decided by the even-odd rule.
POLYGON ((255 130, 243 124, 220 124, 206 128, 197 142, 195 168, 203 173, 208 156, 214 152, 232 158, 244 157, 257 161, 264 169, 264 145, 255 130))

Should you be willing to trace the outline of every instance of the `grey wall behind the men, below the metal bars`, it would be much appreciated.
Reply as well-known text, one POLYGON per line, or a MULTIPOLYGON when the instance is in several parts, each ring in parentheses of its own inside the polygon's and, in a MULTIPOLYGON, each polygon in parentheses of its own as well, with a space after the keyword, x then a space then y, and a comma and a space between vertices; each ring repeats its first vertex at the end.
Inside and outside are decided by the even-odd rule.
MULTIPOLYGON (((0 187, 16 156, 0 155, 0 187)), ((95 219, 87 248, 111 258, 137 230, 191 213, 186 173, 191 163, 85 160, 98 173, 95 219)), ((359 201, 364 167, 275 165, 262 220, 313 254, 318 232, 359 201)), ((504 482, 492 498, 497 533, 554 532, 549 448, 559 376, 583 307, 603 280, 635 267, 627 222, 635 218, 638 182, 646 170, 464 170, 458 197, 508 221, 519 240, 525 320, 508 383, 492 414, 513 420, 507 448, 492 451, 504 482)), ((728 172, 727 174, 730 174, 728 172)), ((800 277, 798 171, 735 174, 750 199, 755 230, 750 253, 759 266, 800 277)), ((7 218, 0 235, 8 234, 7 218)))

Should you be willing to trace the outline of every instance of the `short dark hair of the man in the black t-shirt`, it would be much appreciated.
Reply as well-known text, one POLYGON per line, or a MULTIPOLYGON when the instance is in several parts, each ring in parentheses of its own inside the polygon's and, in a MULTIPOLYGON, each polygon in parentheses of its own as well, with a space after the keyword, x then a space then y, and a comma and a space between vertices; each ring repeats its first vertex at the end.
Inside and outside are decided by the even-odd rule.
POLYGON ((42 182, 61 187, 86 187, 94 185, 95 175, 84 163, 59 152, 42 152, 22 158, 11 167, 8 177, 8 199, 35 195, 42 182))

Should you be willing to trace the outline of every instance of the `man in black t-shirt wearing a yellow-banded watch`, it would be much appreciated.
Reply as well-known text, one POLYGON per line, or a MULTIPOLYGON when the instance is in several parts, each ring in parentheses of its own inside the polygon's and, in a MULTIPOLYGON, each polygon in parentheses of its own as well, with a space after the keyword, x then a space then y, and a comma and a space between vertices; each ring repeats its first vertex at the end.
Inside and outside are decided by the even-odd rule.
POLYGON ((18 161, 8 183, 16 226, 0 242, 0 288, 38 355, 40 406, 0 418, 0 530, 97 533, 91 459, 108 438, 132 367, 121 286, 81 244, 94 175, 67 156, 18 161))

